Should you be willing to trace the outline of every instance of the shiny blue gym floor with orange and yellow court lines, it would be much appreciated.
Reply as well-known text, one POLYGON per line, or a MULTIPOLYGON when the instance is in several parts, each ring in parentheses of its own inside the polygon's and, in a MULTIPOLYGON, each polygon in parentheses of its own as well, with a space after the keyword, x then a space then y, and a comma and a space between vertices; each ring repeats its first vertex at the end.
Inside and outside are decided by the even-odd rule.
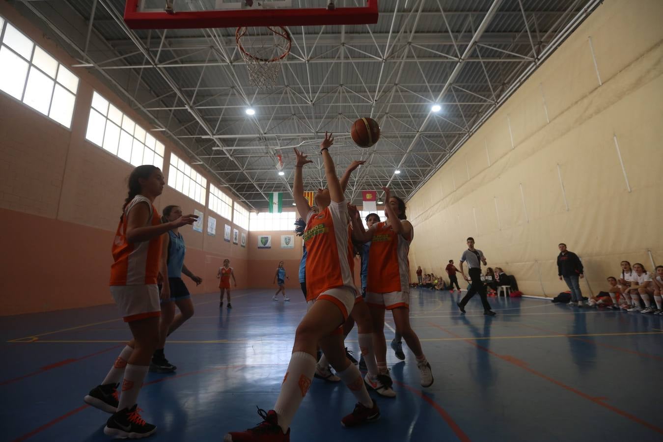
MULTIPOLYGON (((158 427, 151 440, 219 441, 261 421, 256 406, 272 408, 306 304, 294 290, 290 302, 271 296, 237 290, 234 308, 220 311, 217 294, 194 296, 194 317, 166 343, 176 374, 150 373, 139 398, 158 427)), ((489 298, 497 316, 486 317, 478 296, 465 315, 457 300, 457 292, 412 291, 431 388, 420 387, 405 345, 403 362, 388 349, 398 397, 377 398, 378 423, 343 428, 353 396, 316 379, 290 440, 663 440, 663 316, 489 298)), ((355 354, 356 333, 346 341, 355 354)), ((108 440, 108 415, 83 396, 129 337, 114 305, 0 317, 0 334, 1 440, 108 440)))

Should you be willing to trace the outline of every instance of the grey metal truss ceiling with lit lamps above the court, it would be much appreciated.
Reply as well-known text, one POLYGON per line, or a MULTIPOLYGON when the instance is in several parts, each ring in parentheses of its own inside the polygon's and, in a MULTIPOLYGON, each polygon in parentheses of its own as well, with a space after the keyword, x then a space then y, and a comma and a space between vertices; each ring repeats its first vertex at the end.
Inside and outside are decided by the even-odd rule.
POLYGON ((339 174, 366 161, 348 185, 351 201, 382 186, 411 197, 600 3, 479 0, 463 10, 457 1, 381 0, 377 25, 288 28, 278 83, 260 90, 249 85, 234 29, 131 30, 122 0, 65 0, 67 14, 87 22, 75 40, 58 28, 60 8, 21 1, 80 60, 74 67, 101 76, 251 209, 266 207, 268 192, 292 194, 293 147, 314 160, 305 188, 325 186, 325 131, 335 133, 339 174), (362 149, 348 131, 366 116, 382 134, 362 149))

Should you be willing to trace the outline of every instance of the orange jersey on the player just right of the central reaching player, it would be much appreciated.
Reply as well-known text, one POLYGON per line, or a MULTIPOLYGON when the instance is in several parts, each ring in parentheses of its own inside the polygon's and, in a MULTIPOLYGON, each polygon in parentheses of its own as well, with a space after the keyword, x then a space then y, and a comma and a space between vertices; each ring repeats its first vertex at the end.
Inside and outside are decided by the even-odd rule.
POLYGON ((369 249, 367 292, 410 292, 410 241, 394 232, 385 221, 374 224, 369 249))

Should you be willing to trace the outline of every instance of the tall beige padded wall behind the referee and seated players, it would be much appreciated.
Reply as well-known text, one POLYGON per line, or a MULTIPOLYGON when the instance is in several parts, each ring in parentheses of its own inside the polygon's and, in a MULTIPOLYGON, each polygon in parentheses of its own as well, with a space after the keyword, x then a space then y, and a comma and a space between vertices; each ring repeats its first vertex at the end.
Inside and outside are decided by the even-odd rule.
POLYGON ((412 269, 443 274, 469 236, 530 295, 566 290, 560 242, 585 294, 620 260, 663 264, 662 17, 609 0, 573 32, 408 201, 412 269))

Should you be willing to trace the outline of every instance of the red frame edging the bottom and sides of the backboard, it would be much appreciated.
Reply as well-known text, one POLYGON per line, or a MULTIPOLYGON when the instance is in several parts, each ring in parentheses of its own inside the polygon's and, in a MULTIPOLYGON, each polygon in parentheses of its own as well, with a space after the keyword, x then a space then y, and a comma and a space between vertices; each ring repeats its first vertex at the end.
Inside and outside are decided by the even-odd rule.
MULTIPOLYGON (((141 12, 139 0, 127 0, 124 20, 133 29, 236 28, 240 26, 370 25, 377 23, 377 0, 365 7, 242 9, 236 11, 141 12)), ((165 4, 165 2, 164 2, 165 4)))

